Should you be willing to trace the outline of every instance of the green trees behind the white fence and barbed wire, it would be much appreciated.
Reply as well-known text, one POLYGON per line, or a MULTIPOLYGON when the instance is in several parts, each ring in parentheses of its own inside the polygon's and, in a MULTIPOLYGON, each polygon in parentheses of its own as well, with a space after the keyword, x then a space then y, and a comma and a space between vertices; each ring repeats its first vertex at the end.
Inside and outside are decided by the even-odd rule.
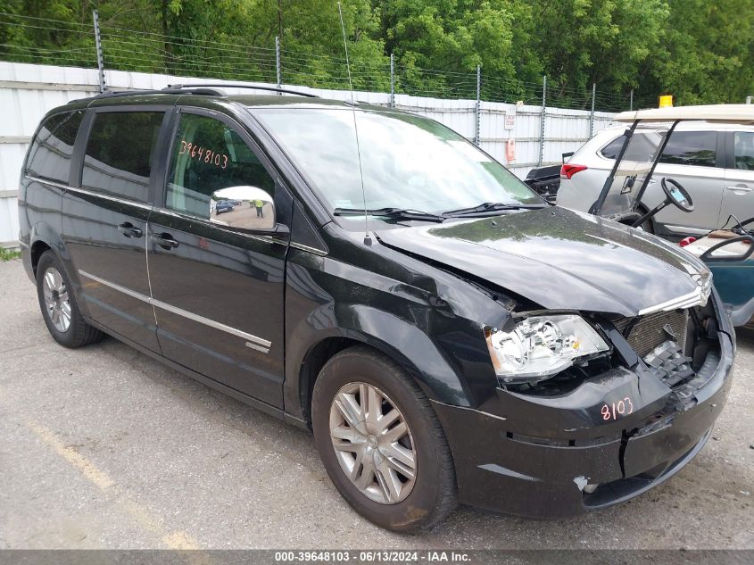
MULTIPOLYGON (((754 94, 754 0, 342 0, 354 87, 622 110, 754 94)), ((0 60, 348 87, 336 0, 0 0, 0 60)))

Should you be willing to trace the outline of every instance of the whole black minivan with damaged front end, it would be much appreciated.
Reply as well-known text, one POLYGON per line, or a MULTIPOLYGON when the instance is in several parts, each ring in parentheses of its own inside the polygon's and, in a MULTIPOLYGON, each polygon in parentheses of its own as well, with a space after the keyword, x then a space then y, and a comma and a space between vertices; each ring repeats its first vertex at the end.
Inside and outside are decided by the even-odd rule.
POLYGON ((20 238, 58 343, 109 334, 312 429, 394 530, 459 501, 604 508, 700 452, 735 349, 701 262, 547 204, 433 120, 281 94, 46 115, 20 238))

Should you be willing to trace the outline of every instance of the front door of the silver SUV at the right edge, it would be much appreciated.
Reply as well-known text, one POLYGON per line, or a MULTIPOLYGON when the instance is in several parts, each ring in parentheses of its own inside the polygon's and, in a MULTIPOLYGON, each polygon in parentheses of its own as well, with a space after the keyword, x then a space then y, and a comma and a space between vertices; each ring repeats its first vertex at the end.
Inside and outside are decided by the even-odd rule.
MULTIPOLYGON (((721 225, 732 215, 741 221, 754 217, 754 132, 731 131, 728 137, 733 160, 725 169, 721 225)), ((729 228, 734 225, 733 219, 727 222, 729 228)))

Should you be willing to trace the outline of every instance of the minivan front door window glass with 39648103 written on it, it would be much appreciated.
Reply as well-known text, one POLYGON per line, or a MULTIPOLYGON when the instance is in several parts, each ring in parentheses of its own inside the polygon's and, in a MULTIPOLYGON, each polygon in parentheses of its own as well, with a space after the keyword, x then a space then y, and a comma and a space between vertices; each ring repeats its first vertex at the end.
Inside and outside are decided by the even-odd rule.
POLYGON ((275 180, 234 129, 208 116, 182 114, 170 156, 165 207, 208 220, 212 193, 238 186, 275 193, 275 180))

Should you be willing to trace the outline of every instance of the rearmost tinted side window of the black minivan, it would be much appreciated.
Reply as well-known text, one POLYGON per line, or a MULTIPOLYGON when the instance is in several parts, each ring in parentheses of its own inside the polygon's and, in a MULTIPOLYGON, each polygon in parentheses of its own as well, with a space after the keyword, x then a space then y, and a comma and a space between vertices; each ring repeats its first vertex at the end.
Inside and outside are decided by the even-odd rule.
POLYGON ((27 174, 68 184, 70 156, 84 112, 66 112, 45 120, 29 150, 27 174))

